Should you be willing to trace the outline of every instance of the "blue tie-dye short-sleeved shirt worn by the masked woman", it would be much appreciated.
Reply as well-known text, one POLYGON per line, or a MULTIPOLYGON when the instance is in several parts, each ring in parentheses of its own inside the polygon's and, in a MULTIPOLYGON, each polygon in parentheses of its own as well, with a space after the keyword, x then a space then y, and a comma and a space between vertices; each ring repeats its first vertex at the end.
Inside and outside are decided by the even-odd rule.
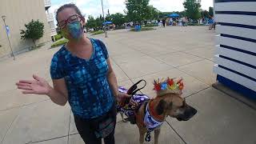
POLYGON ((78 58, 62 46, 50 66, 52 79, 65 78, 71 110, 82 118, 97 118, 114 104, 107 80, 106 46, 98 39, 90 38, 90 42, 93 45, 90 59, 78 58))

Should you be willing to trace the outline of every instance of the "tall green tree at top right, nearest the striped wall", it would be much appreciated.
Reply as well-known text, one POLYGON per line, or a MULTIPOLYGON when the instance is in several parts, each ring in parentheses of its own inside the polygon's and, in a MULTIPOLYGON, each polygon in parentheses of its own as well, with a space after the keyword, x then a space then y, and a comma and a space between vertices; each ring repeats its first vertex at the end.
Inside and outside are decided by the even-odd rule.
POLYGON ((185 0, 183 2, 183 6, 185 8, 186 16, 193 20, 198 20, 201 18, 200 14, 200 0, 185 0))

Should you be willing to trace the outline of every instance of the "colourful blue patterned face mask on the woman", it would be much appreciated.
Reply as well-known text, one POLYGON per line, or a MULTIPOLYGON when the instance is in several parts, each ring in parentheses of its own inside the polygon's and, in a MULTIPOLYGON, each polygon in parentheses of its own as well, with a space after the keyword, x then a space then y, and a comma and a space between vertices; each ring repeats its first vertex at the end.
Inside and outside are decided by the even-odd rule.
POLYGON ((81 23, 79 21, 73 22, 73 23, 68 23, 66 25, 66 28, 72 38, 78 40, 82 37, 83 29, 82 29, 81 23))

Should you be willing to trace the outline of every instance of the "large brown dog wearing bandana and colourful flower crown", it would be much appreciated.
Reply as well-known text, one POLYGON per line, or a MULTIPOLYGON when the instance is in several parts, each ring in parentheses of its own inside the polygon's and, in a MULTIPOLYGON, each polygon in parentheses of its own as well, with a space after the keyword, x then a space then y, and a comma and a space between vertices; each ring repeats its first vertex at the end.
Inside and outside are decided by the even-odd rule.
MULTIPOLYGON (((144 142, 144 137, 147 133, 146 126, 143 122, 145 117, 146 103, 143 103, 138 109, 138 112, 135 114, 136 123, 140 134, 139 142, 141 144, 144 142)), ((148 102, 148 110, 150 115, 158 122, 164 122, 167 116, 177 118, 178 121, 187 121, 197 113, 197 110, 186 104, 185 98, 182 98, 181 94, 165 94, 162 96, 157 96, 148 102)), ((154 130, 155 144, 158 144, 160 128, 161 126, 154 130)))

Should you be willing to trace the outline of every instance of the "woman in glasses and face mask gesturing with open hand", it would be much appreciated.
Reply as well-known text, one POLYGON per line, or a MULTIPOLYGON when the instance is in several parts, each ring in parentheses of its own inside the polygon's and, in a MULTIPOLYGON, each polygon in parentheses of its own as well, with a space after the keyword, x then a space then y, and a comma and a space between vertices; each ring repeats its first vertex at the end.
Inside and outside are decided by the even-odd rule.
MULTIPOLYGON (((86 144, 114 143, 115 98, 123 102, 129 95, 118 92, 117 79, 106 46, 83 33, 85 18, 74 4, 57 10, 56 20, 66 46, 52 58, 51 87, 44 78, 17 83, 23 94, 46 94, 52 102, 64 106, 69 101, 78 132, 86 144)), ((131 102, 135 104, 134 102, 131 102)))

